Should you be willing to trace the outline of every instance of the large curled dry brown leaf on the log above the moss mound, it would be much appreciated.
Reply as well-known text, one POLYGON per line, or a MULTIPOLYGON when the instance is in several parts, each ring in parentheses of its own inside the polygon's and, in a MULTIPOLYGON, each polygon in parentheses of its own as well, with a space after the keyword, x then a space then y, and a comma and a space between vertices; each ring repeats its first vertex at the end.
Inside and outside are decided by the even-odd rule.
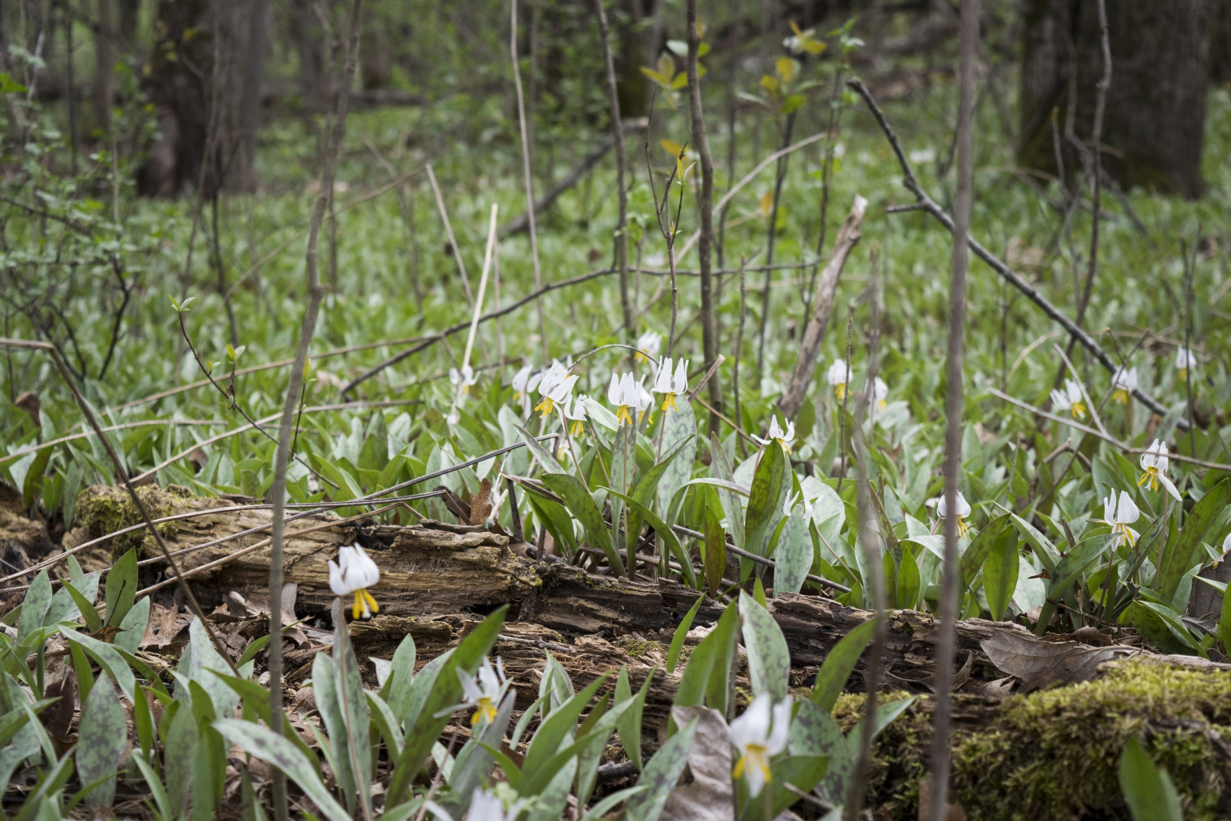
POLYGON ((1098 666, 1129 647, 1091 647, 1077 641, 1044 641, 1033 636, 996 630, 980 643, 997 670, 1022 679, 1022 692, 1093 678, 1098 666))

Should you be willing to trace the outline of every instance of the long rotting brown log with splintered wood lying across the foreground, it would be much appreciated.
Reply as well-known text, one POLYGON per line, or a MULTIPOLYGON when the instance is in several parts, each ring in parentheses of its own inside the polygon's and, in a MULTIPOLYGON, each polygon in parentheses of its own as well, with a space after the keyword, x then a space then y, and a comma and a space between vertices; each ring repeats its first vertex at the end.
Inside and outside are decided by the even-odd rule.
MULTIPOLYGON (((211 511, 230 505, 225 500, 193 497, 155 487, 143 489, 143 499, 156 516, 188 510, 211 511)), ((119 491, 108 487, 82 491, 78 510, 85 531, 74 535, 78 544, 86 535, 105 535, 134 523, 137 518, 119 491)), ((182 550, 193 544, 268 524, 270 516, 268 510, 206 513, 159 527, 166 528, 164 537, 170 548, 182 550)), ((529 559, 526 558, 527 545, 513 543, 502 533, 475 526, 428 521, 414 527, 359 527, 353 522, 331 524, 331 516, 320 515, 300 519, 287 528, 286 582, 298 587, 298 617, 321 615, 327 612, 334 598, 329 590, 327 560, 336 555, 337 547, 342 544, 356 540, 362 544, 380 567, 380 583, 373 592, 382 609, 380 618, 373 625, 355 625, 356 641, 359 644, 362 641, 358 636, 364 635, 364 631, 379 630, 384 635, 399 638, 410 634, 416 643, 435 641, 443 649, 446 643, 457 641, 468 624, 501 604, 512 606, 511 624, 535 625, 550 635, 558 635, 559 639, 542 640, 553 643, 556 649, 570 647, 570 652, 576 652, 581 644, 593 641, 604 641, 613 647, 629 641, 641 643, 639 646, 648 643, 667 644, 680 620, 699 596, 697 591, 670 580, 630 581, 590 574, 559 560, 529 559), (303 531, 308 527, 319 529, 304 534, 303 531), (388 622, 390 618, 403 620, 388 622)), ((134 542, 148 539, 142 532, 130 535, 134 542)), ((128 537, 117 537, 117 540, 124 538, 128 537)), ((186 553, 180 560, 185 571, 192 572, 207 561, 236 554, 263 538, 263 532, 250 533, 234 542, 186 553)), ((144 540, 140 544, 145 556, 155 556, 151 545, 145 545, 144 540)), ((108 549, 107 555, 114 555, 118 549, 127 549, 127 543, 108 549)), ((149 567, 158 570, 159 566, 154 564, 149 567)), ((203 601, 218 603, 233 591, 245 597, 266 598, 267 572, 267 551, 254 550, 190 579, 203 601)), ((721 602, 707 598, 697 612, 694 627, 714 624, 721 611, 721 602)), ((811 683, 816 667, 825 661, 833 646, 854 627, 872 618, 870 611, 847 607, 821 596, 796 593, 771 599, 769 612, 782 628, 799 684, 811 683)), ((889 686, 908 687, 916 692, 931 689, 936 631, 937 623, 927 613, 894 611, 890 614, 885 647, 889 686)), ((981 647, 995 631, 1023 639, 1032 636, 1025 628, 1008 622, 959 622, 958 662, 963 665, 961 682, 969 683, 968 689, 1006 676, 981 647)), ((598 645, 588 646, 593 650, 598 645)), ((542 647, 535 645, 535 651, 540 654, 542 647)), ((1136 651, 1126 649, 1125 652, 1136 651)), ((369 655, 379 654, 373 647, 369 655)), ((614 668, 628 660, 628 654, 612 651, 609 659, 611 667, 614 668)), ((1173 665, 1231 670, 1227 665, 1214 665, 1188 656, 1161 659, 1173 665)), ((654 662, 645 663, 652 666, 654 662)), ((854 689, 863 687, 862 665, 860 660, 852 677, 851 687, 854 689)))

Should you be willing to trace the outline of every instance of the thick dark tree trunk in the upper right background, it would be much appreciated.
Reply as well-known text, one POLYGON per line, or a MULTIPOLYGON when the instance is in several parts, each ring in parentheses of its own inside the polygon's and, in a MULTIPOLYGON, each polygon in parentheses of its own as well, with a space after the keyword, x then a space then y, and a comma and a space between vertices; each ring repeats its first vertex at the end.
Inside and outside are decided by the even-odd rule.
MULTIPOLYGON (((1199 197, 1211 0, 1107 0, 1112 85, 1103 123, 1103 167, 1128 188, 1199 197)), ((1051 117, 1060 134, 1088 140, 1103 71, 1093 0, 1023 0, 1018 162, 1055 172, 1051 117), (1070 101, 1070 94, 1076 100, 1070 101)), ((1065 167, 1081 160, 1065 145, 1065 167)))

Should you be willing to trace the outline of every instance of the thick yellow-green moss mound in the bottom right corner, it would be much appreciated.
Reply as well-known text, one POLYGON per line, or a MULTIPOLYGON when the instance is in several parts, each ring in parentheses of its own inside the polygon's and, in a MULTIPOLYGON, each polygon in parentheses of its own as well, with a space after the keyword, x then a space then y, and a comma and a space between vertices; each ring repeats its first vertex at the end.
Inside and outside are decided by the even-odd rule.
MULTIPOLYGON (((904 693, 886 693, 885 700, 904 693)), ((835 719, 849 730, 862 695, 835 719)), ((876 819, 915 821, 927 771, 931 702, 921 699, 876 740, 868 801, 876 819)), ((1231 812, 1231 676, 1125 662, 1098 681, 1016 695, 954 699, 952 800, 970 821, 1119 821, 1117 768, 1136 736, 1179 791, 1188 821, 1231 812)))

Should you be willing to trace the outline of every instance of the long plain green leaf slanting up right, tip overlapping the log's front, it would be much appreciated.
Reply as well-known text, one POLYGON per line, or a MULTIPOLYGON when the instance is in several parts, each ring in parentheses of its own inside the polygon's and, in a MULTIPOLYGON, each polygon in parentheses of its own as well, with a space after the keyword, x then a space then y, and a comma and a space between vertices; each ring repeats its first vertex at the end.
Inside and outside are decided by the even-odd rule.
MULTIPOLYGON (((505 604, 484 619, 469 635, 462 639, 462 643, 449 652, 448 659, 439 665, 438 673, 435 677, 435 686, 431 686, 422 707, 417 711, 414 726, 406 732, 406 746, 398 757, 398 763, 389 783, 389 793, 385 796, 388 806, 393 806, 403 800, 411 779, 419 774, 419 769, 423 764, 423 758, 432 748, 436 739, 439 737, 444 725, 448 724, 448 715, 437 718, 437 714, 457 704, 458 699, 460 699, 462 681, 458 678, 458 672, 460 671, 467 676, 475 673, 479 665, 483 663, 483 660, 491 651, 492 645, 496 644, 496 638, 500 635, 500 628, 503 627, 507 613, 508 606, 505 604)), ((416 684, 425 671, 420 671, 419 676, 416 676, 416 684)))

